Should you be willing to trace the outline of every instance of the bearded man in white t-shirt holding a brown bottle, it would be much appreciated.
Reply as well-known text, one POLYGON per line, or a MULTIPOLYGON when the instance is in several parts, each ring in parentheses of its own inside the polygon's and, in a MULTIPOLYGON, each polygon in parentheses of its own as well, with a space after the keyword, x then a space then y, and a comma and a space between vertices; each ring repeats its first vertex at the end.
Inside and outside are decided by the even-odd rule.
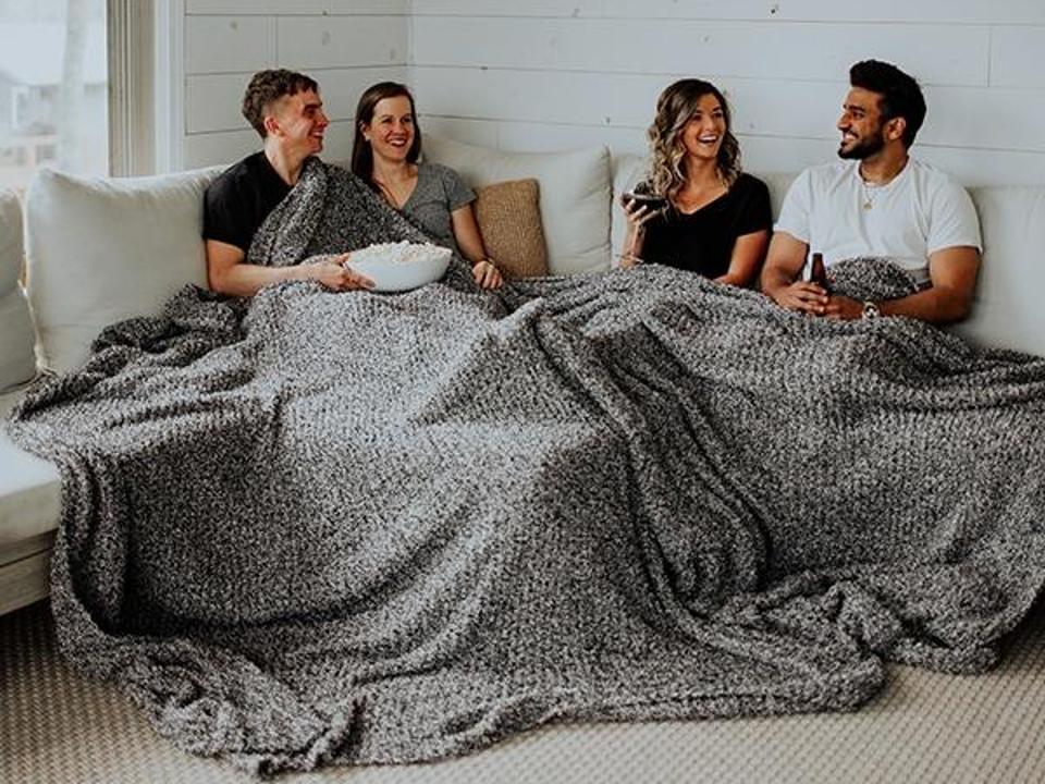
POLYGON ((980 269, 980 224, 969 194, 908 149, 925 118, 918 83, 895 65, 866 60, 849 70, 838 130, 840 161, 802 172, 784 199, 762 291, 782 307, 835 319, 909 316, 957 321, 969 313, 980 269), (803 281, 806 258, 887 257, 920 290, 857 302, 803 281))

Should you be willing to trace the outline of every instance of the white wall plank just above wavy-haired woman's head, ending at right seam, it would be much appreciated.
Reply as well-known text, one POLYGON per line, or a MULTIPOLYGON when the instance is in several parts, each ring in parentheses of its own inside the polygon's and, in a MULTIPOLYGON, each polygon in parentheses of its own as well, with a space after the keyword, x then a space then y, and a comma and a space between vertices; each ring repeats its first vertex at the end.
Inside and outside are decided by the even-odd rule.
POLYGON ((989 28, 960 25, 417 17, 413 64, 837 79, 866 57, 926 84, 986 85, 989 28))

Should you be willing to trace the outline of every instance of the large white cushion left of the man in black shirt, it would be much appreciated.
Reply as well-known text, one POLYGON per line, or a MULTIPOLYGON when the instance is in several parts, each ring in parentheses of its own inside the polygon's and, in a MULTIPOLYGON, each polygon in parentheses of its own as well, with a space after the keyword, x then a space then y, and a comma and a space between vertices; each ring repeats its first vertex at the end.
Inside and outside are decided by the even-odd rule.
POLYGON ((127 180, 39 171, 26 198, 41 362, 70 370, 107 324, 207 284, 202 194, 220 168, 127 180))

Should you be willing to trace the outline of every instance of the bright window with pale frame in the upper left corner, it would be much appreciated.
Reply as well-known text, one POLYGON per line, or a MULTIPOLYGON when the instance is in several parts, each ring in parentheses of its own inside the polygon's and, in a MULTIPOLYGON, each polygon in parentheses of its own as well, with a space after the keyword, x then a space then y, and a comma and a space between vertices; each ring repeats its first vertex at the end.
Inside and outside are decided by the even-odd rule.
MULTIPOLYGON (((156 171, 153 19, 181 0, 0 0, 0 188, 46 163, 83 174, 156 171)), ((165 84, 161 82, 160 84, 165 84)))

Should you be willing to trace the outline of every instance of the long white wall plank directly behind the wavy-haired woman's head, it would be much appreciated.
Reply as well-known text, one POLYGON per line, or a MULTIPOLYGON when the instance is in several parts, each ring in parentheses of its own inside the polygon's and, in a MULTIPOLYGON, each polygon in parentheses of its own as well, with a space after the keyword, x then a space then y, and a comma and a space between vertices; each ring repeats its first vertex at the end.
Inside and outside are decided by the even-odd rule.
MULTIPOLYGON (((419 110, 431 114, 646 128, 672 76, 548 74, 480 69, 413 70, 419 110)), ((846 82, 715 78, 733 109, 734 128, 748 135, 836 139, 846 82)), ((1045 152, 1045 103, 1016 89, 927 87, 923 145, 1045 152), (1004 138, 1003 138, 1004 135, 1004 138)))

